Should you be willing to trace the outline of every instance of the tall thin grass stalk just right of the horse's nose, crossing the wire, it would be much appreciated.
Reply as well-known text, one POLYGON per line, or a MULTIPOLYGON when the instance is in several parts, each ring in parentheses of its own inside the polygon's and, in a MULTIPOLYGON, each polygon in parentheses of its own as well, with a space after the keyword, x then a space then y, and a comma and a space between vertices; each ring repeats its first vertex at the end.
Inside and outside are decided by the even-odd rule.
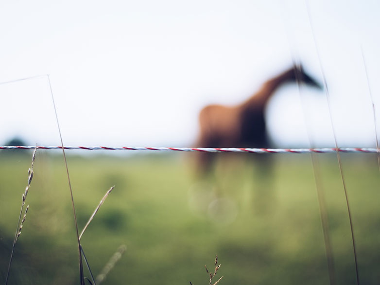
MULTIPOLYGON (((334 142, 335 142, 335 148, 338 149, 338 143, 337 143, 336 135, 335 135, 335 128, 334 128, 334 124, 333 124, 333 120, 332 120, 332 116, 331 116, 331 103, 330 103, 330 95, 329 95, 328 88, 327 88, 327 83, 326 83, 326 76, 325 76, 325 72, 324 72, 323 67, 322 67, 321 56, 320 56, 318 45, 317 45, 317 41, 316 41, 316 38, 315 38, 315 33, 314 33, 313 25, 312 25, 311 14, 310 14, 310 7, 309 7, 308 0, 305 0, 305 3, 306 3, 306 10, 307 10, 307 13, 308 13, 309 23, 310 23, 310 27, 311 27, 311 34, 312 34, 312 37, 313 37, 313 41, 314 41, 314 45, 315 45, 315 50, 316 50, 316 53, 317 53, 317 58, 318 58, 318 62, 319 62, 319 66, 320 66, 320 70, 321 70, 321 74, 322 74, 322 78, 323 78, 323 85, 324 85, 325 93, 326 93, 326 97, 327 97, 328 113, 329 113, 329 116, 330 116, 331 127, 332 127, 334 142)), ((340 157, 340 154, 339 154, 338 151, 336 152, 336 155, 337 155, 337 160, 338 160, 338 164, 339 164, 339 171, 340 171, 341 178, 342 178, 343 189, 344 189, 344 192, 345 192, 345 201, 346 201, 346 206, 347 206, 348 219, 349 219, 349 222, 350 222, 350 230, 351 230, 351 237, 352 237, 352 249, 353 249, 353 252, 354 252, 354 261, 355 261, 355 270, 356 270, 356 283, 357 283, 357 285, 359 285, 360 281, 359 281, 359 271, 358 271, 358 259, 357 259, 357 254, 356 254, 355 237, 354 237, 354 230, 353 230, 353 225, 352 225, 352 216, 351 216, 350 206, 349 206, 349 202, 348 202, 347 189, 346 189, 346 186, 345 186, 345 178, 344 178, 344 175, 343 175, 342 161, 341 161, 341 157, 340 157)))

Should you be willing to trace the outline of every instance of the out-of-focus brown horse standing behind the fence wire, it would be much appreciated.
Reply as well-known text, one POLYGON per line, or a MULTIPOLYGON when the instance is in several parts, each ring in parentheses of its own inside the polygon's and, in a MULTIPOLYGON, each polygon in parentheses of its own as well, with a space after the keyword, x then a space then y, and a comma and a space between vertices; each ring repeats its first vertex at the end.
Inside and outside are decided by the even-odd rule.
MULTIPOLYGON (((269 98, 286 83, 305 83, 322 89, 302 66, 292 67, 266 81, 248 100, 235 107, 209 105, 199 115, 198 147, 270 147, 264 111, 269 98)), ((198 170, 206 174, 215 155, 199 153, 198 170)))

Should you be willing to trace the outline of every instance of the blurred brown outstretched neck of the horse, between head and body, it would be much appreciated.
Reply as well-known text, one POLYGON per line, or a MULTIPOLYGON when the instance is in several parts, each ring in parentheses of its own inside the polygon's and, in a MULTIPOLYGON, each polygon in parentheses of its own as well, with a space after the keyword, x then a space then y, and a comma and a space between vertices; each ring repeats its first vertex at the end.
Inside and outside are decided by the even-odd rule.
POLYGON ((282 84, 286 82, 290 82, 294 80, 294 70, 285 71, 278 76, 266 81, 259 92, 254 94, 251 98, 249 98, 246 102, 242 104, 243 108, 264 108, 271 98, 271 96, 275 93, 276 89, 278 89, 282 84))

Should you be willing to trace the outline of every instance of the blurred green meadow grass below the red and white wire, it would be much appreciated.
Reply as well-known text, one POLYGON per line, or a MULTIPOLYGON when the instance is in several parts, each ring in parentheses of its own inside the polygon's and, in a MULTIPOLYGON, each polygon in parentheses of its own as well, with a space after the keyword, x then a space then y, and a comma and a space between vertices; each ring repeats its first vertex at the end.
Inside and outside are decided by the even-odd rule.
MULTIPOLYGON (((191 154, 190 154, 191 155, 191 154)), ((32 152, 0 153, 0 278, 6 269, 32 152)), ((308 155, 273 155, 267 175, 236 157, 215 178, 192 175, 189 154, 69 156, 79 228, 116 185, 82 238, 99 273, 127 251, 104 284, 206 284, 215 254, 220 284, 328 284, 317 194, 308 155)), ((338 164, 320 154, 337 284, 355 284, 338 164)), ((342 154, 363 284, 380 280, 380 175, 370 154, 342 154)), ((74 221, 59 152, 37 151, 30 205, 9 284, 78 284, 74 221)), ((88 276, 88 274, 86 274, 88 276)))

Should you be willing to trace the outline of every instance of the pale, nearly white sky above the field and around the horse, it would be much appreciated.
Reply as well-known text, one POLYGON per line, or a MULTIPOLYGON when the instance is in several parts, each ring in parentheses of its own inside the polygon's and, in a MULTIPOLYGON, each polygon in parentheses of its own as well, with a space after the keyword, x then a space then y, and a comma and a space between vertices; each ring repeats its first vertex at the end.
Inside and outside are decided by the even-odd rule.
POLYGON ((374 147, 379 12, 377 0, 1 1, 0 144, 60 144, 49 74, 65 145, 195 146, 202 107, 242 103, 297 58, 328 94, 279 89, 275 146, 333 147, 335 133, 374 147))

